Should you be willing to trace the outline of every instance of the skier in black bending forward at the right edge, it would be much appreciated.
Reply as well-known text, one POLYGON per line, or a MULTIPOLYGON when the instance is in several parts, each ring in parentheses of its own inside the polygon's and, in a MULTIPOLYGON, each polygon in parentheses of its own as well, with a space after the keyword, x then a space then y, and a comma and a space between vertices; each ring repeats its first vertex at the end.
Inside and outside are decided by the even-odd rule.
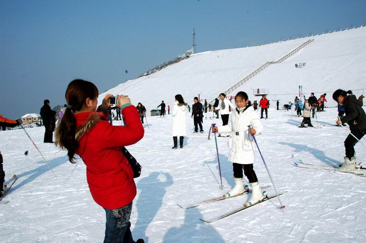
POLYGON ((344 172, 354 171, 356 169, 354 146, 366 133, 366 114, 362 109, 362 99, 363 96, 360 96, 357 100, 356 96, 352 95, 351 90, 346 92, 345 90, 337 89, 333 93, 333 100, 344 106, 346 114, 340 117, 336 123, 337 125, 348 123, 351 130, 351 134, 347 136, 344 142, 346 148, 345 162, 339 168, 339 170, 344 172))

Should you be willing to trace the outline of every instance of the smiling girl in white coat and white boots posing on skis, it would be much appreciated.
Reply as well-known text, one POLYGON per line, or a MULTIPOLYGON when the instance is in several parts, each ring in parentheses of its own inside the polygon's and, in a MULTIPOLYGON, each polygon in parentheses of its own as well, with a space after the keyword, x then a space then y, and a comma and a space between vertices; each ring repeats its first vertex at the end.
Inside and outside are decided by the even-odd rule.
POLYGON ((255 144, 252 134, 260 134, 263 126, 258 113, 248 99, 247 93, 242 91, 237 93, 235 104, 236 108, 231 112, 229 123, 226 126, 212 128, 212 130, 218 133, 232 133, 232 137, 228 141, 228 160, 233 163, 235 186, 225 194, 225 197, 232 197, 248 191, 242 183, 244 170, 253 191, 252 197, 245 204, 249 206, 266 197, 261 192, 257 175, 253 170, 255 144), (248 129, 248 126, 251 128, 248 129))

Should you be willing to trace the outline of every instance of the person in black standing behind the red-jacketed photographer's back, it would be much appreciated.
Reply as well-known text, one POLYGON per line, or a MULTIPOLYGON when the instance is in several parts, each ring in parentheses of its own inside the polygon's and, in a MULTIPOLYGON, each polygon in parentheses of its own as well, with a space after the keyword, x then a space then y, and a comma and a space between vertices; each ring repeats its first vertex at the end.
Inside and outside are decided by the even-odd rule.
POLYGON ((45 126, 44 143, 53 143, 53 131, 56 125, 55 114, 56 111, 52 111, 49 106, 49 100, 43 101, 44 105, 41 108, 40 114, 42 116, 43 125, 45 126))

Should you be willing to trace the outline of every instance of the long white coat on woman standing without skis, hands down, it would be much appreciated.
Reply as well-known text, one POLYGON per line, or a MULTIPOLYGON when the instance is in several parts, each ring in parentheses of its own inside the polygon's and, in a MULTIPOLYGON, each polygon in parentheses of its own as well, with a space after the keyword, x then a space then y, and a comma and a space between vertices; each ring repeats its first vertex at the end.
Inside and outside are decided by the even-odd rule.
POLYGON ((170 128, 172 137, 187 136, 186 114, 187 105, 178 104, 178 102, 175 101, 172 112, 173 121, 170 128))

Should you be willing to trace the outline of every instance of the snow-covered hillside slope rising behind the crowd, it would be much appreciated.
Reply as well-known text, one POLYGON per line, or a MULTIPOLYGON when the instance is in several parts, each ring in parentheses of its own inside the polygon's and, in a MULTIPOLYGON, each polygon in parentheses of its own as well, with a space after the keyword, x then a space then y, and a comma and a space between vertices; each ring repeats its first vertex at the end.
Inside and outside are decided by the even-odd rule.
MULTIPOLYGON (((231 94, 243 90, 253 101, 253 89, 269 89, 270 100, 285 104, 298 94, 300 70, 295 63, 306 63, 301 69, 303 94, 327 93, 328 105, 335 89, 352 89, 361 94, 366 88, 366 27, 347 31, 300 38, 256 47, 197 53, 180 63, 155 74, 130 80, 106 93, 129 95, 133 103, 141 102, 154 109, 162 100, 172 104, 181 94, 188 103, 200 94, 211 101, 220 93, 246 77, 261 65, 275 61, 309 39, 314 42, 301 49, 281 64, 273 64, 231 94)), ((104 97, 105 93, 100 96, 104 97)))

